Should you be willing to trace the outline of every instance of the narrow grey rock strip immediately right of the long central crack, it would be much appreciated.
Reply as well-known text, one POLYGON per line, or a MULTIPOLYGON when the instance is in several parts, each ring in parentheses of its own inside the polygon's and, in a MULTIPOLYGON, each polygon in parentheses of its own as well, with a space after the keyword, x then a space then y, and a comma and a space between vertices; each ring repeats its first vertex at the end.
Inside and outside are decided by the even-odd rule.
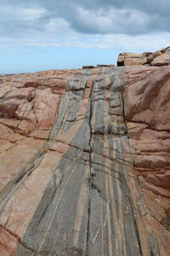
MULTIPOLYGON (((92 154, 92 168, 95 161, 98 161, 100 166, 105 166, 105 158, 100 158, 95 154, 95 149, 103 154, 105 132, 104 125, 104 94, 105 94, 105 76, 102 74, 99 81, 95 81, 92 91, 92 122, 93 140, 91 147, 94 153, 92 154), (97 147, 97 148, 96 148, 97 147), (101 165, 100 165, 101 164, 101 165)), ((106 225, 106 197, 105 197, 105 174, 96 170, 95 176, 92 177, 92 195, 90 201, 90 216, 89 216, 89 236, 88 236, 88 255, 107 255, 107 239, 105 236, 106 225)))

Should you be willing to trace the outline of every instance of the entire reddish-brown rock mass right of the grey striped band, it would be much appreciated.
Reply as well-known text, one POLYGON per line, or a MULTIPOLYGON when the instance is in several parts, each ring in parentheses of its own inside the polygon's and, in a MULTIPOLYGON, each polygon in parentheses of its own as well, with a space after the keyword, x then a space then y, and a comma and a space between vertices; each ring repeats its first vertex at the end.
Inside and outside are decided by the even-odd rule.
MULTIPOLYGON (((166 247, 170 230, 170 67, 134 68, 126 70, 123 78, 125 119, 134 155, 132 172, 143 188, 150 211, 147 221, 153 222, 166 247)), ((168 255, 170 248, 164 250, 161 255, 168 255)))

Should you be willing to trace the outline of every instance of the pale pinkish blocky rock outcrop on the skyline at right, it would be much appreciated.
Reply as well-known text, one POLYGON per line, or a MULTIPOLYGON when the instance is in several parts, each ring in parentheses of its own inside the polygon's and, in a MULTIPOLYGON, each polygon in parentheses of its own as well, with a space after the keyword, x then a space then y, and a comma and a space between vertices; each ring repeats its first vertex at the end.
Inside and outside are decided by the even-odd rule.
POLYGON ((170 47, 157 50, 155 53, 143 54, 121 53, 118 55, 117 66, 169 66, 170 47))

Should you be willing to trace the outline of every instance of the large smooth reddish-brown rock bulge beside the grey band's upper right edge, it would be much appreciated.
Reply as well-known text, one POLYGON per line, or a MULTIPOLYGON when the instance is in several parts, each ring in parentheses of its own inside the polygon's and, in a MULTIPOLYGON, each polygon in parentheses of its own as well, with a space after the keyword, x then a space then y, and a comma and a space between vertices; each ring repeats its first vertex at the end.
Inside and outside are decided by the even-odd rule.
MULTIPOLYGON (((150 69, 150 74, 125 87, 125 117, 151 129, 170 130, 169 67, 150 69)), ((141 70, 139 70, 139 73, 141 70)), ((145 72, 145 71, 143 71, 145 72)))

